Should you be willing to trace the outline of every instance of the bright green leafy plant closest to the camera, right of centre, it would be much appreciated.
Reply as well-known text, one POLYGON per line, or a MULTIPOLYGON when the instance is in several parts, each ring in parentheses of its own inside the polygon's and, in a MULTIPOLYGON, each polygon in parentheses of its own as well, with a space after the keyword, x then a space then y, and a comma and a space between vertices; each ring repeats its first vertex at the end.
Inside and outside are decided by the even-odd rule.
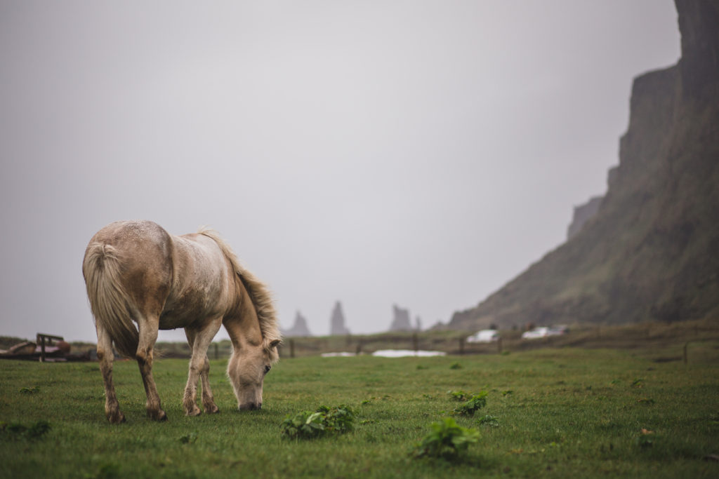
POLYGON ((431 432, 418 442, 411 452, 413 457, 441 457, 454 460, 467 452, 470 444, 480 439, 476 429, 457 425, 447 417, 430 425, 431 432))

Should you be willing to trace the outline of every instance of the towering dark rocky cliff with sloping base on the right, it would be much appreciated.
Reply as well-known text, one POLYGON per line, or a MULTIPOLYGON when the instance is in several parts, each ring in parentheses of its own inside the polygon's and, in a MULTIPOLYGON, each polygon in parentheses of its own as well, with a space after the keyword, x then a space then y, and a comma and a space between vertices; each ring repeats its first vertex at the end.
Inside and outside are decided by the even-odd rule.
POLYGON ((634 80, 599 211, 450 327, 719 317, 719 0, 677 0, 678 65, 634 80))

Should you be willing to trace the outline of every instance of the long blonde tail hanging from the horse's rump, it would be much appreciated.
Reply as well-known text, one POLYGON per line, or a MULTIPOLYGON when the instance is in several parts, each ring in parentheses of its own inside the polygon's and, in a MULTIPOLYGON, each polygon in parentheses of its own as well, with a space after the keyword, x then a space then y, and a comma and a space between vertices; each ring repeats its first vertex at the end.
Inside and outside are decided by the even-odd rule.
POLYGON ((130 299, 122 287, 121 258, 104 243, 91 243, 85 251, 83 276, 95 321, 106 330, 119 353, 134 358, 139 335, 130 315, 130 299))

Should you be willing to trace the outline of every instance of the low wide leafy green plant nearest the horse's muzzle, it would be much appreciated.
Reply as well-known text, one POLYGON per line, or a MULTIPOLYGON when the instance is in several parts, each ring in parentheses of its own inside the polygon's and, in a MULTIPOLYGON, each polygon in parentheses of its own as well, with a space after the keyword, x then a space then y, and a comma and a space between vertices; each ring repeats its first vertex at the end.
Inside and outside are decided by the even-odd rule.
POLYGON ((311 439, 328 433, 341 434, 352 430, 354 411, 349 406, 319 406, 316 411, 288 414, 282 422, 282 435, 290 439, 311 439))

